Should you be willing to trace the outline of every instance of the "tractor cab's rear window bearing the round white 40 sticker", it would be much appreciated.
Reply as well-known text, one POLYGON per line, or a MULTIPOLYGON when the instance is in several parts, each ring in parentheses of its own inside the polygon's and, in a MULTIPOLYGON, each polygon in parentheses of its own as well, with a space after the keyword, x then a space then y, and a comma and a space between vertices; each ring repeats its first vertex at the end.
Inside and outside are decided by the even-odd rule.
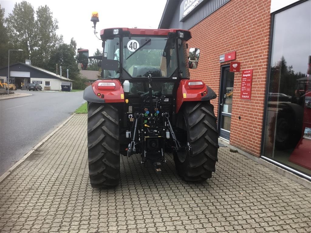
POLYGON ((170 77, 177 69, 175 39, 123 38, 123 69, 132 77, 170 77))

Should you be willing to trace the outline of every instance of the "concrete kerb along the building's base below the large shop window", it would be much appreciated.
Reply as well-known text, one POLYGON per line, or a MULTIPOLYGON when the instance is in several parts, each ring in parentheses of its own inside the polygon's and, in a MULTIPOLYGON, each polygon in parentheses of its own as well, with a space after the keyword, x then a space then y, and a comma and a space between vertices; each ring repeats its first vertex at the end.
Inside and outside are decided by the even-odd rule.
POLYGON ((243 150, 241 150, 235 146, 232 146, 226 140, 219 138, 219 141, 221 141, 222 144, 225 144, 228 148, 237 150, 238 153, 240 153, 241 155, 243 155, 243 156, 245 156, 245 157, 247 157, 247 158, 249 158, 249 159, 251 159, 251 160, 267 167, 267 168, 269 168, 270 170, 275 171, 275 172, 279 173, 280 175, 285 176, 286 178, 293 180, 296 183, 303 185, 307 189, 311 190, 311 182, 309 180, 306 180, 303 177, 297 176, 296 174, 294 174, 290 171, 287 171, 287 170, 283 169, 282 167, 276 166, 275 164, 268 162, 267 160, 264 160, 262 158, 257 158, 256 156, 253 156, 253 155, 251 155, 251 154, 249 154, 249 153, 247 153, 247 152, 245 152, 245 151, 243 151, 243 150))

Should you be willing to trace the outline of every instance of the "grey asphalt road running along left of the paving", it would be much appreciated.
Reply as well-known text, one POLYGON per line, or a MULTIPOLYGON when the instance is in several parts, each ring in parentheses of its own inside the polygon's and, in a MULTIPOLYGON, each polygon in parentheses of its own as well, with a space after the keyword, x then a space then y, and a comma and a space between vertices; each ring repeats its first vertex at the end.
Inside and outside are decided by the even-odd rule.
POLYGON ((0 100, 0 176, 85 102, 82 91, 15 92, 33 95, 0 100))

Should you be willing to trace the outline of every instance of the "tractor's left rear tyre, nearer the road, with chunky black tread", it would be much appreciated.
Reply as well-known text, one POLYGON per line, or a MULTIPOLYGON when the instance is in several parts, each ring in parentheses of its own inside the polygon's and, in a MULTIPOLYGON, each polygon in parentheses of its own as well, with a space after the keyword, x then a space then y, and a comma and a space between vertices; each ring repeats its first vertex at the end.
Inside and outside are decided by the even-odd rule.
POLYGON ((87 146, 93 188, 111 188, 120 179, 118 109, 113 104, 88 103, 87 146))

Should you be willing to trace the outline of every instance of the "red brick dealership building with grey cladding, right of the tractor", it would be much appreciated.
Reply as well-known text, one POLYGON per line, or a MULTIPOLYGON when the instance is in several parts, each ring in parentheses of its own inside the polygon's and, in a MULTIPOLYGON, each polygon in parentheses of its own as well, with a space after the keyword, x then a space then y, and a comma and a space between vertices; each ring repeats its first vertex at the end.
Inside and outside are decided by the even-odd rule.
POLYGON ((200 48, 200 61, 190 75, 218 95, 220 137, 309 179, 310 9, 311 0, 168 0, 159 25, 191 31, 188 47, 200 48))

